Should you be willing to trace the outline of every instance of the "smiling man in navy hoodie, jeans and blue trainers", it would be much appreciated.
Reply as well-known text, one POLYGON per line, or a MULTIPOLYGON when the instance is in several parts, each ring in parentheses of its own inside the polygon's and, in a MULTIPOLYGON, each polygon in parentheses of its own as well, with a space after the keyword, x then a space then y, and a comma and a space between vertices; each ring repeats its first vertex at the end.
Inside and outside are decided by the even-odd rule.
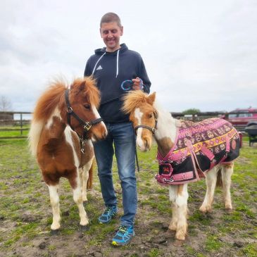
POLYGON ((95 50, 95 54, 87 61, 84 76, 94 75, 96 78, 97 87, 101 91, 99 113, 108 129, 106 139, 94 144, 101 192, 106 206, 99 217, 102 224, 110 222, 118 211, 111 171, 113 153, 117 159, 124 214, 120 218, 120 227, 112 244, 119 246, 129 243, 134 236, 134 216, 137 212, 134 130, 129 116, 120 108, 127 89, 141 89, 149 93, 151 82, 142 57, 129 50, 125 44, 120 44, 123 26, 117 14, 106 13, 101 18, 100 34, 106 47, 95 50))

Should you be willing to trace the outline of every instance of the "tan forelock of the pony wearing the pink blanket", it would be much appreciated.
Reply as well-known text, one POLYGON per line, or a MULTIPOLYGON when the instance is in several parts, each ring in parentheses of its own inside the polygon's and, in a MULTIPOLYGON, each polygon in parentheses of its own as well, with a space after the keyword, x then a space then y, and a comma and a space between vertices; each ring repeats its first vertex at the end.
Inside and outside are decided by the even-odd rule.
POLYGON ((130 91, 123 96, 124 104, 122 111, 124 113, 131 113, 135 108, 142 106, 146 103, 147 94, 141 90, 130 91))

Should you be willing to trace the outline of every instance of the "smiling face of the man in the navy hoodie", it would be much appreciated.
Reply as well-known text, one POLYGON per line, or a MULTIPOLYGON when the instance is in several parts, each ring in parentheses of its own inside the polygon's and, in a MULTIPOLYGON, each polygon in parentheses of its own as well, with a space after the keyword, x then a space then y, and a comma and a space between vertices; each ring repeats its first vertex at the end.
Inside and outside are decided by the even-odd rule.
POLYGON ((102 23, 100 28, 101 38, 106 44, 106 51, 116 51, 120 48, 120 37, 123 35, 123 27, 116 22, 102 23))

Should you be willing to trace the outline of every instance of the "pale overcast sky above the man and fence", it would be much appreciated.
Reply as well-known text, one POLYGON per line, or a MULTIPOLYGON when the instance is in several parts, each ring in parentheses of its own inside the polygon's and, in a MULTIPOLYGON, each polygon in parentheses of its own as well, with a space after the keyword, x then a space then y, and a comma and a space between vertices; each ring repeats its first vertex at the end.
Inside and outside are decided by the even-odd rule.
POLYGON ((168 111, 257 107, 256 0, 0 0, 0 96, 13 111, 32 111, 56 75, 82 77, 109 11, 168 111))

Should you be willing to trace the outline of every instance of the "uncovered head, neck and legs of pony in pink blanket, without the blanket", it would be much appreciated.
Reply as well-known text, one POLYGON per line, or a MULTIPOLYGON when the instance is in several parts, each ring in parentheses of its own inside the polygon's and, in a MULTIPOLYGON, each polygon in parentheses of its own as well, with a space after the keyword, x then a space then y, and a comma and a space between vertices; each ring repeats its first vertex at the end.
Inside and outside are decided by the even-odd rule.
MULTIPOLYGON (((175 144, 180 120, 173 118, 168 111, 163 110, 156 103, 156 93, 147 95, 139 90, 128 93, 125 96, 123 111, 130 113, 130 120, 135 130, 137 130, 137 146, 141 151, 148 151, 151 148, 152 137, 154 137, 158 144, 158 154, 166 156, 169 153, 175 144)), ((213 194, 220 173, 225 208, 232 209, 230 184, 233 162, 230 162, 215 165, 206 173, 206 196, 200 207, 200 211, 203 213, 211 212, 213 194)), ((187 182, 184 184, 168 184, 168 186, 173 209, 169 229, 175 231, 176 239, 184 240, 187 235, 187 199, 189 197, 187 182)))

